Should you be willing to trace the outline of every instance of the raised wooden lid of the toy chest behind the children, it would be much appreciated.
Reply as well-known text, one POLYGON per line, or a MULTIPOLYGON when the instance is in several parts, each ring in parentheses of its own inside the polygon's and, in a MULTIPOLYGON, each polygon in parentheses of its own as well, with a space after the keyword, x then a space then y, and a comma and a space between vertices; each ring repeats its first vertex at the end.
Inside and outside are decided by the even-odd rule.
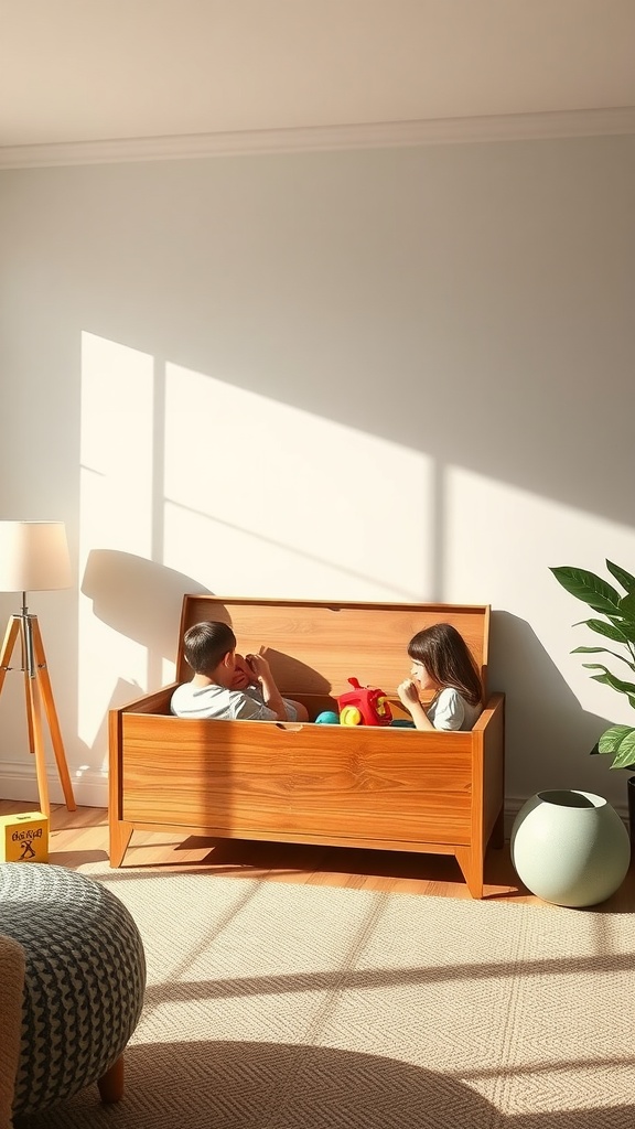
POLYGON ((433 623, 452 623, 463 636, 487 688, 489 604, 377 604, 312 599, 252 599, 241 596, 183 597, 176 681, 192 672, 183 634, 193 623, 229 623, 241 654, 267 646, 282 693, 341 694, 357 677, 394 694, 408 677, 408 644, 433 623))

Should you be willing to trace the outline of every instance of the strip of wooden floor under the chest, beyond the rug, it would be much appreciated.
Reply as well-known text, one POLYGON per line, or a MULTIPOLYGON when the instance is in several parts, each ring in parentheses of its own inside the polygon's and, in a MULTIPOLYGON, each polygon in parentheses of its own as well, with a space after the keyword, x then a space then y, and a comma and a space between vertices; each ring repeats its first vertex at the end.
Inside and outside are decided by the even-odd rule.
MULTIPOLYGON (((36 807, 36 804, 24 800, 0 800, 0 815, 34 811, 36 807)), ((101 807, 79 807, 76 812, 68 812, 63 805, 53 805, 49 850, 50 863, 70 869, 86 863, 106 863, 107 812, 101 807)), ((444 855, 194 837, 181 840, 168 833, 136 831, 124 867, 142 868, 148 873, 159 868, 205 868, 210 874, 232 878, 259 877, 271 882, 434 894, 437 898, 470 896, 455 859, 444 855)), ((485 883, 485 898, 546 904, 530 894, 515 875, 508 843, 502 850, 488 851, 485 883)), ((626 881, 612 898, 602 903, 602 910, 635 910, 635 866, 632 865, 626 881)))

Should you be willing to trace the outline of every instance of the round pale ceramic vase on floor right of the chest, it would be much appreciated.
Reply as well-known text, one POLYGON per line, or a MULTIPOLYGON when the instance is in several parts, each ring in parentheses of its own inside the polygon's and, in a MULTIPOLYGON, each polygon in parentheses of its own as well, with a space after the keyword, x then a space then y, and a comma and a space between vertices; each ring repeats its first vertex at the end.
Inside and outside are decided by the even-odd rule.
POLYGON ((603 902, 630 863, 619 815, 589 791, 539 791, 528 799, 514 820, 511 851, 525 886, 556 905, 603 902))

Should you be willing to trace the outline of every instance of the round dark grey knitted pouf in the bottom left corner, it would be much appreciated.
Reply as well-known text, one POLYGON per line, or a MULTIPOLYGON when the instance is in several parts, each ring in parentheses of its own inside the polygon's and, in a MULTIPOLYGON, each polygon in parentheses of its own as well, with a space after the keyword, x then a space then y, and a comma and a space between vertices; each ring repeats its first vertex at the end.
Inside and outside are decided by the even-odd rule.
POLYGON ((146 960, 106 886, 45 863, 0 864, 0 933, 26 957, 18 1117, 99 1082, 121 1058, 141 1015, 146 960))

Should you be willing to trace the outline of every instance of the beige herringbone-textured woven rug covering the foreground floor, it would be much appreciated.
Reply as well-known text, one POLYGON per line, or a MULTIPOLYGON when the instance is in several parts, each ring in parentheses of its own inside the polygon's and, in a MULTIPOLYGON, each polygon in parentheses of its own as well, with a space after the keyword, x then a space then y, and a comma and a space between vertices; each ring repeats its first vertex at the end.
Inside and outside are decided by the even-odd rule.
POLYGON ((122 1103, 29 1129, 632 1129, 635 918, 85 866, 149 984, 122 1103))

